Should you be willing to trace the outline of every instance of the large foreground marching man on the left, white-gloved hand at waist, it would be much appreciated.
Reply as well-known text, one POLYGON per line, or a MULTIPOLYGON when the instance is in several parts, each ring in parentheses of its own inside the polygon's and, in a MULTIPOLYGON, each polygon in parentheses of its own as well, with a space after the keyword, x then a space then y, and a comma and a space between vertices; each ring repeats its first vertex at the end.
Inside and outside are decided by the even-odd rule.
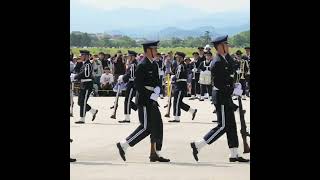
POLYGON ((125 140, 117 143, 121 158, 126 161, 127 148, 133 147, 150 135, 150 162, 169 162, 160 154, 163 140, 163 124, 157 99, 160 94, 158 66, 153 62, 157 55, 159 41, 144 42, 144 59, 138 64, 134 84, 137 90, 137 106, 140 125, 125 140))

